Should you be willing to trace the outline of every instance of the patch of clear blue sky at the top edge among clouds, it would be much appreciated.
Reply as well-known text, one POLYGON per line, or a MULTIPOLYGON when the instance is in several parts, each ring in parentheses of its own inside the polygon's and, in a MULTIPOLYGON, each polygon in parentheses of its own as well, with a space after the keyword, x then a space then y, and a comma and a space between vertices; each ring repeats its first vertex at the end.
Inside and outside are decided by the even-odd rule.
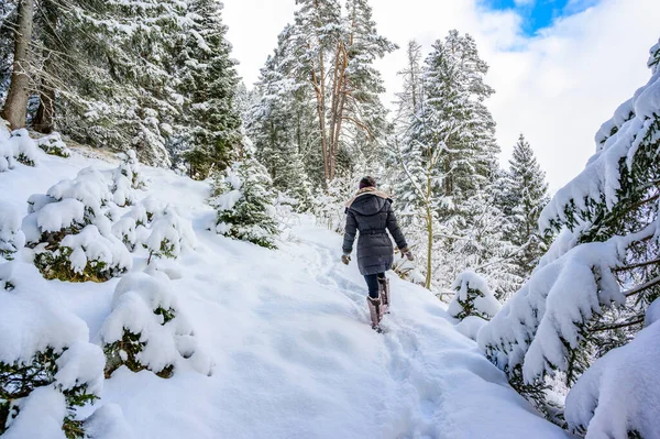
POLYGON ((534 35, 548 28, 561 17, 579 13, 598 3, 598 0, 484 0, 484 4, 495 10, 515 10, 522 17, 522 31, 534 35))

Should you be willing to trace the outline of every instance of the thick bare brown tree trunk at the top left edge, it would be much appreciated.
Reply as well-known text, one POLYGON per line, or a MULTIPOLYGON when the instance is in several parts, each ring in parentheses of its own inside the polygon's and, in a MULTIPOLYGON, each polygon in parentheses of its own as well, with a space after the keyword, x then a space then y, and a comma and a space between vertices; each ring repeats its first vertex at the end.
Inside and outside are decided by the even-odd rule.
POLYGON ((11 85, 7 101, 2 109, 12 130, 25 127, 28 114, 28 98, 30 96, 30 76, 28 74, 28 46, 32 39, 32 18, 34 15, 33 0, 20 0, 14 31, 14 61, 11 74, 11 85))

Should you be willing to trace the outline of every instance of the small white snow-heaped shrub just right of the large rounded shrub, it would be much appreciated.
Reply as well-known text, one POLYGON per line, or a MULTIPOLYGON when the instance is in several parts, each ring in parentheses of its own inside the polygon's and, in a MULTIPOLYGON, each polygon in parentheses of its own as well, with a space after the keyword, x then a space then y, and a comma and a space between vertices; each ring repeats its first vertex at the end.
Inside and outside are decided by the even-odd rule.
POLYGON ((172 205, 154 213, 148 232, 150 235, 143 243, 148 251, 148 262, 152 257, 176 259, 182 250, 193 249, 196 244, 193 224, 182 218, 172 205))

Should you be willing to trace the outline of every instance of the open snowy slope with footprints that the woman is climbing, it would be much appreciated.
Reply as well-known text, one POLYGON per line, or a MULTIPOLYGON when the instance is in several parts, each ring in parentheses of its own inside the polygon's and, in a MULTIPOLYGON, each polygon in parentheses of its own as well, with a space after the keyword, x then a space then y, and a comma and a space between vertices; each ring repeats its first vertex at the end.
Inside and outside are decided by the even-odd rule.
MULTIPOLYGON (((78 154, 40 158, 35 168, 0 174, 1 201, 25 209, 31 194, 80 168, 111 166, 78 154)), ((193 221, 196 250, 162 267, 216 365, 210 377, 186 367, 169 380, 120 369, 107 380, 97 405, 118 404, 135 438, 565 437, 508 387, 427 290, 391 275, 386 333, 371 330, 364 282, 355 264, 338 262, 341 237, 302 217, 277 251, 232 241, 206 230, 215 216, 206 184, 144 174, 151 182, 140 196, 172 202, 193 221)), ((133 271, 145 264, 136 257, 133 271)), ((94 340, 117 283, 51 281, 44 294, 82 318, 94 340)))

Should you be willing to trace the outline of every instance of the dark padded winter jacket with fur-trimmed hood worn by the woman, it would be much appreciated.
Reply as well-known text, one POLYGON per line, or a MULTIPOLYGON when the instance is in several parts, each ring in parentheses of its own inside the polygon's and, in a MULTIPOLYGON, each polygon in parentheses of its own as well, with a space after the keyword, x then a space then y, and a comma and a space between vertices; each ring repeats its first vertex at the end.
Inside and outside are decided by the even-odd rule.
POLYGON ((363 189, 346 204, 342 250, 346 254, 353 251, 355 233, 359 231, 358 267, 363 275, 384 273, 392 268, 394 250, 387 230, 399 249, 408 246, 392 210, 392 199, 385 194, 374 188, 363 189))

